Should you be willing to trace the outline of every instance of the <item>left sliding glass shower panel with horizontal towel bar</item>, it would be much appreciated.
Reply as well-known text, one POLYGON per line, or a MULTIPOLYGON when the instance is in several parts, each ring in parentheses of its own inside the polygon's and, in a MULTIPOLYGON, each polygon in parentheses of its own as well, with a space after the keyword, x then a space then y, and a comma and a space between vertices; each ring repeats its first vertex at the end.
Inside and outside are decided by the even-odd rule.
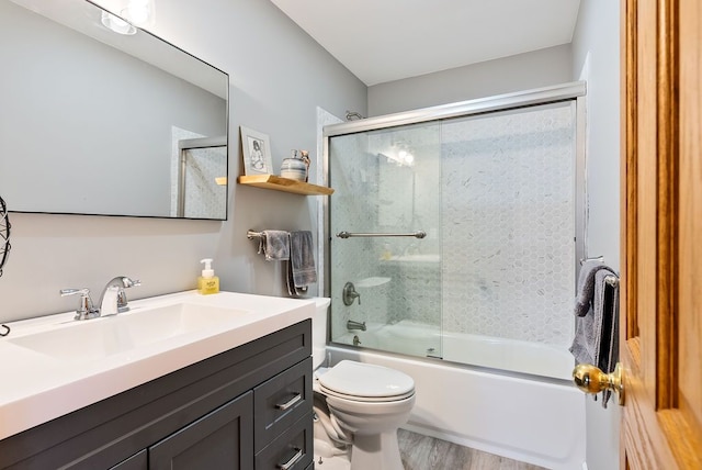
POLYGON ((442 356, 440 128, 329 139, 335 343, 442 356))

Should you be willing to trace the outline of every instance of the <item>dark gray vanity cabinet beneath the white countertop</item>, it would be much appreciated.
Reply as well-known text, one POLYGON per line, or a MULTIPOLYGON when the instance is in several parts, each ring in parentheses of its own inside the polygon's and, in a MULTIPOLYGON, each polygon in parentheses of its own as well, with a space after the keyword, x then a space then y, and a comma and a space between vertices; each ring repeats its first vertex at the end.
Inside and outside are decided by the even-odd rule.
POLYGON ((307 469, 310 354, 307 320, 0 440, 0 469, 307 469))

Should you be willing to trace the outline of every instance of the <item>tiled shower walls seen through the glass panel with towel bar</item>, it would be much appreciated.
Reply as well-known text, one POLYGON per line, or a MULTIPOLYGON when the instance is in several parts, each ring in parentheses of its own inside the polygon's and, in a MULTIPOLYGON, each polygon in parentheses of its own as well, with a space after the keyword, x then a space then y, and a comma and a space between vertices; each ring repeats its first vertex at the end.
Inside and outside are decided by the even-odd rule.
POLYGON ((439 270, 440 183, 439 126, 406 126, 344 135, 330 142, 329 175, 335 188, 329 216, 331 236, 332 338, 347 332, 346 322, 374 324, 418 320, 441 323, 439 270), (411 149, 411 165, 398 163, 398 152, 411 149), (417 177, 421 172, 421 177, 417 177), (432 198, 423 195, 430 189, 432 198), (433 227, 432 230, 429 230, 433 227), (340 231, 409 233, 423 239, 367 237, 340 239, 340 231), (427 262, 407 262, 405 255, 433 253, 427 262), (353 282, 361 304, 344 305, 341 290, 353 282), (429 284, 428 284, 429 282, 429 284), (430 289, 427 289, 427 287, 430 289))

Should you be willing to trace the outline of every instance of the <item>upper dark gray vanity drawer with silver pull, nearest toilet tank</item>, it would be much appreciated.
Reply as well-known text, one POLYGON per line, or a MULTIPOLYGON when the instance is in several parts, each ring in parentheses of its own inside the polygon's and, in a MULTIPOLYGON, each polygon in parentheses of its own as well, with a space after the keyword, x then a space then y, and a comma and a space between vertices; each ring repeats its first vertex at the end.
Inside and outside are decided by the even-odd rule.
POLYGON ((253 389, 254 432, 258 452, 304 415, 312 412, 312 357, 253 389))

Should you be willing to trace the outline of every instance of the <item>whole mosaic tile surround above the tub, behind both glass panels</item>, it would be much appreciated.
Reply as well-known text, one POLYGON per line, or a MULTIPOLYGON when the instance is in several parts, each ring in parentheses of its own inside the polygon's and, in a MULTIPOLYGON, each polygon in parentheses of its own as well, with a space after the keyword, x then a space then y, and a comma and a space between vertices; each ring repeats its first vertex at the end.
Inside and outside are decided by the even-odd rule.
POLYGON ((332 338, 348 333, 349 318, 411 321, 565 349, 575 128, 575 104, 566 102, 332 137, 331 231, 428 234, 332 234, 332 338), (398 149, 414 155, 411 165, 394 159, 398 149), (347 281, 375 277, 389 281, 356 289, 361 305, 343 305, 347 281))

